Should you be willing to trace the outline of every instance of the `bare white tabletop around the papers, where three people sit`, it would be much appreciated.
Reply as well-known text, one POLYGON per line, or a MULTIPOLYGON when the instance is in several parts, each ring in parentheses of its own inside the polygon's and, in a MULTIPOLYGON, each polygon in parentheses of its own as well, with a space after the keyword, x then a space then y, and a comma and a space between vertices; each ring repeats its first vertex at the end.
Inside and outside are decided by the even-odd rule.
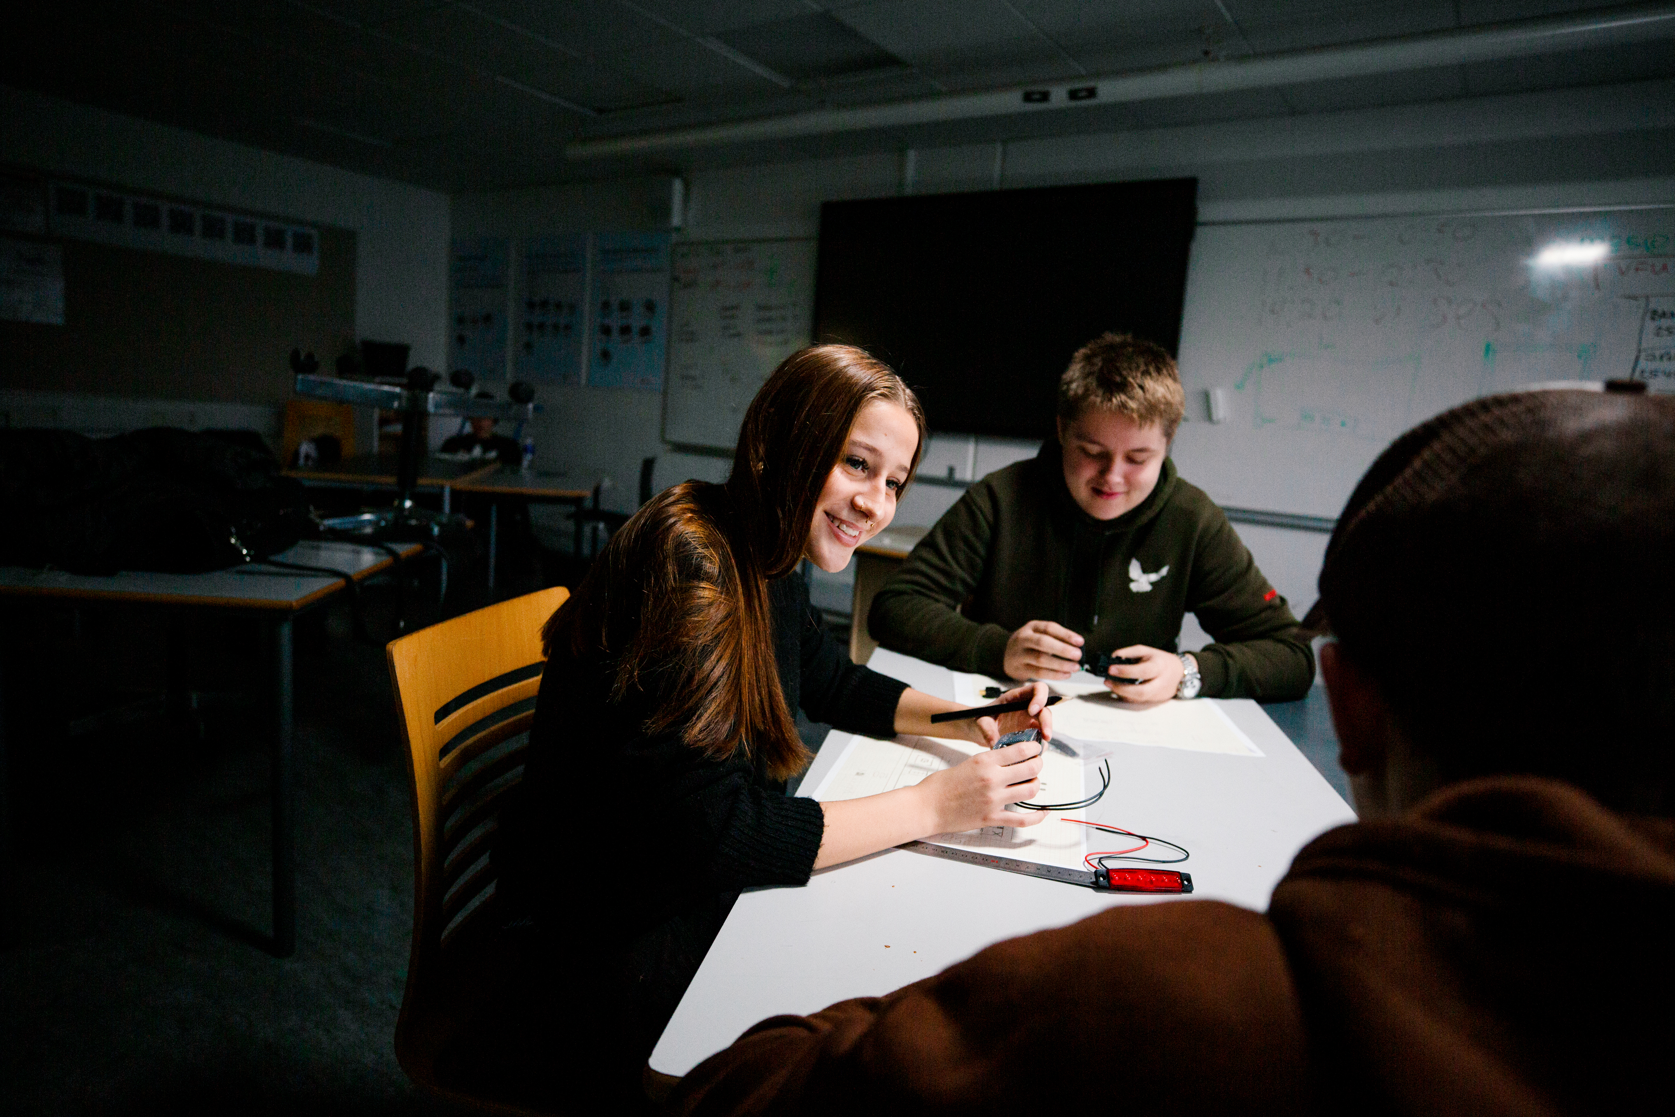
MULTIPOLYGON (((883 648, 871 668, 953 698, 946 668, 883 648)), ((1199 702, 1221 702, 1263 755, 1116 745, 1111 790, 1077 812, 1184 844, 1193 856, 1178 867, 1193 874, 1189 898, 1095 893, 911 849, 821 869, 806 888, 752 889, 698 966, 652 1052, 652 1068, 683 1075, 767 1017, 878 996, 992 943, 1112 906, 1223 899, 1266 909, 1296 851, 1355 814, 1260 705, 1199 702)), ((838 730, 826 737, 802 790, 819 787, 849 740, 838 730)))

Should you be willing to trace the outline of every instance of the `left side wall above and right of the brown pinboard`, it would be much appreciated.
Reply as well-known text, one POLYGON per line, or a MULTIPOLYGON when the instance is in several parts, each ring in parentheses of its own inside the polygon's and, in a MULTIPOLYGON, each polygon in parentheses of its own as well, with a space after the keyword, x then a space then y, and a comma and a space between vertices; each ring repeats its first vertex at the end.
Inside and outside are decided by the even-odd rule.
POLYGON ((446 363, 446 194, 7 87, 0 162, 353 229, 357 335, 446 363))

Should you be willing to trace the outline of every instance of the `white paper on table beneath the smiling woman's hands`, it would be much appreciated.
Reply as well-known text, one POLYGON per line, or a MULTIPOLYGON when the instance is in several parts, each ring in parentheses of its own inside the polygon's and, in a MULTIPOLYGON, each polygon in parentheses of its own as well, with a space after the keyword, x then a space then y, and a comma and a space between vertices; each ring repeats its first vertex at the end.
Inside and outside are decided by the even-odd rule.
MULTIPOLYGON (((968 740, 940 737, 898 737, 876 740, 856 735, 843 757, 814 790, 814 799, 836 802, 913 787, 926 775, 960 764, 982 752, 968 740)), ((1082 790, 1082 762, 1049 750, 1044 754, 1040 802, 1075 802, 1082 790)), ((1015 861, 1033 861, 1064 869, 1082 869, 1087 852, 1084 827, 1049 814, 1045 822, 1027 827, 990 826, 960 834, 933 834, 925 842, 955 849, 977 849, 1015 861)))

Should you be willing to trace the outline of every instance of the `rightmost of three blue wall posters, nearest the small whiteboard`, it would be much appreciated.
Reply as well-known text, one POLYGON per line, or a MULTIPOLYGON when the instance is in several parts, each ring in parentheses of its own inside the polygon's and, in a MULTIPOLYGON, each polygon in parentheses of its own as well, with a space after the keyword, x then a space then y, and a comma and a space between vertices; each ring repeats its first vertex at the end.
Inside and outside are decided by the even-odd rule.
POLYGON ((668 348, 668 233, 593 238, 588 385, 663 389, 668 348))

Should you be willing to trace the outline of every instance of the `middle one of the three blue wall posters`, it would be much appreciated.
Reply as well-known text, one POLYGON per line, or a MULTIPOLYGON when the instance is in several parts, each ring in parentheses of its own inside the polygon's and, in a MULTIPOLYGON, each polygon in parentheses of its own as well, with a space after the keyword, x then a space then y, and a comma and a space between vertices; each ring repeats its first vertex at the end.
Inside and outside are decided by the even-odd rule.
POLYGON ((523 290, 513 318, 521 380, 581 383, 588 303, 588 238, 523 243, 523 290))

